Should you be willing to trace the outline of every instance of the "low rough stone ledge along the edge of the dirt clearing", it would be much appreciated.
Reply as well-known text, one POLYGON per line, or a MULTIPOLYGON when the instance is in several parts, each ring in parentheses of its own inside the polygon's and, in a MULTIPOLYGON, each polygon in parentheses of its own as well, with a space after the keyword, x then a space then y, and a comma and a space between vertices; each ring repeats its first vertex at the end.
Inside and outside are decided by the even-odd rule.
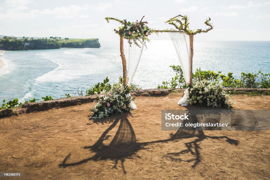
MULTIPOLYGON (((257 89, 257 88, 223 88, 227 91, 270 91, 270 89, 257 89)), ((141 89, 141 90, 133 90, 130 92, 132 96, 166 96, 170 92, 184 92, 185 89, 141 89)), ((19 115, 22 113, 29 113, 35 111, 46 111, 52 108, 62 108, 68 106, 75 106, 79 104, 93 102, 97 99, 96 95, 89 95, 84 97, 70 97, 70 98, 60 98, 50 101, 41 101, 41 102, 29 102, 23 104, 19 108, 14 109, 2 109, 0 110, 0 118, 4 118, 6 116, 11 115, 19 115)))

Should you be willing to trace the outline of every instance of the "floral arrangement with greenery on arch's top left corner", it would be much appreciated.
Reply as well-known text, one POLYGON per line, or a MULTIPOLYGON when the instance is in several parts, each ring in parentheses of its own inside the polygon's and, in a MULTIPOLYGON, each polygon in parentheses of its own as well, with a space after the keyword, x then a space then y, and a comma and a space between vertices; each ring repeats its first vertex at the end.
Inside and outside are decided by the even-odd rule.
MULTIPOLYGON (((144 17, 144 16, 143 16, 144 17)), ((105 18, 107 22, 110 20, 118 21, 123 26, 119 27, 119 31, 114 29, 116 34, 120 34, 123 38, 128 40, 128 43, 131 45, 132 43, 136 44, 137 46, 141 47, 138 43, 138 41, 146 46, 146 42, 150 42, 150 39, 148 38, 149 35, 151 35, 153 32, 157 34, 157 32, 154 29, 149 28, 146 24, 147 22, 142 22, 143 18, 141 18, 141 21, 135 21, 135 22, 129 22, 124 19, 123 21, 116 18, 105 18)))

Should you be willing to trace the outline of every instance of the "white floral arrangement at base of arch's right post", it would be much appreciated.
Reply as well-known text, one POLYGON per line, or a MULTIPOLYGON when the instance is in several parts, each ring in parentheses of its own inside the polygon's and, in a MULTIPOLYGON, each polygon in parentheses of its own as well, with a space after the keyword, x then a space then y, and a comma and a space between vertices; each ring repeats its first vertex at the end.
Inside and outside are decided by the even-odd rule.
POLYGON ((185 94, 188 97, 188 105, 233 108, 231 104, 236 103, 229 99, 231 96, 221 85, 211 84, 205 80, 188 85, 185 94))

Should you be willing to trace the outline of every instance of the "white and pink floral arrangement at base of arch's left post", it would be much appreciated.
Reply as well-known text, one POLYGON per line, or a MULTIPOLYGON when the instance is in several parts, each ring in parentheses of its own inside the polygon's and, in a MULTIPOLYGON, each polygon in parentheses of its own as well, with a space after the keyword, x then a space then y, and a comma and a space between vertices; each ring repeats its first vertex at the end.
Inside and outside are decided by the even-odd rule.
POLYGON ((134 101, 130 95, 130 86, 123 86, 121 80, 109 91, 100 92, 98 97, 98 102, 90 109, 90 117, 93 119, 130 111, 130 103, 134 101))

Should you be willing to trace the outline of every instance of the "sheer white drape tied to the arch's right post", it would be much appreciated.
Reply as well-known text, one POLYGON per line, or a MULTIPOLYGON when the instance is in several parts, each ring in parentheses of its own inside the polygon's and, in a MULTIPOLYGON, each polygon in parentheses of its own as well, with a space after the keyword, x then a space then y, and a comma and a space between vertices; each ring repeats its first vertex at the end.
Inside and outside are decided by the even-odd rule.
MULTIPOLYGON (((178 56, 181 69, 183 70, 183 75, 186 83, 190 82, 190 67, 191 67, 191 52, 190 52, 190 42, 189 36, 184 32, 169 32, 171 40, 173 41, 176 54, 178 56)), ((187 92, 187 89, 185 90, 187 92)), ((187 106, 187 95, 184 94, 178 105, 187 106)))

